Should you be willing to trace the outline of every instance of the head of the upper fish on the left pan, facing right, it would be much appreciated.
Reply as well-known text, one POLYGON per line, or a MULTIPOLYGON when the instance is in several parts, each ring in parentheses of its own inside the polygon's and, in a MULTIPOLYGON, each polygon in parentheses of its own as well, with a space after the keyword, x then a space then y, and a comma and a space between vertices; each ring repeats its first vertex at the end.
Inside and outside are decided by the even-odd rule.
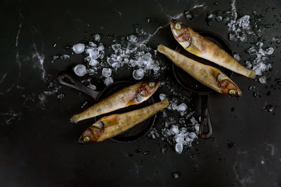
POLYGON ((143 102, 148 99, 159 88, 160 83, 161 81, 145 81, 141 83, 136 94, 138 102, 143 102))

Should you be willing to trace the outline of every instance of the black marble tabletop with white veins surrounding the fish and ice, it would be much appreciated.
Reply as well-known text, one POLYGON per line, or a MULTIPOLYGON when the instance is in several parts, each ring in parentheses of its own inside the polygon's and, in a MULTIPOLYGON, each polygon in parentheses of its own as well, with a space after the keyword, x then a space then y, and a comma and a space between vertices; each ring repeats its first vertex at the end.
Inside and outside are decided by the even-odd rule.
MULTIPOLYGON (((60 88, 59 92, 65 93, 61 102, 50 95, 44 105, 39 104, 40 93, 49 90, 47 82, 77 63, 51 63, 53 55, 61 54, 67 44, 90 39, 96 33, 105 39, 108 34, 130 34, 136 23, 145 32, 153 33, 169 22, 167 15, 178 15, 202 3, 0 1, 0 75, 6 74, 0 84, 0 186, 280 186, 281 92, 275 78, 281 77, 281 65, 280 49, 275 43, 274 56, 269 60, 273 69, 267 74, 268 83, 262 85, 235 74, 233 80, 240 85, 243 96, 233 99, 211 95, 213 137, 200 139, 197 146, 181 155, 171 147, 162 154, 161 148, 166 143, 160 138, 144 137, 129 144, 107 140, 80 146, 77 139, 90 121, 77 125, 69 123, 69 118, 80 110, 81 102, 91 98, 76 90, 60 88), (32 59, 36 50, 45 55, 46 81, 32 59), (261 97, 253 97, 248 90, 250 85, 256 85, 261 97), (267 95, 268 91, 273 94, 267 95), (266 104, 275 106, 274 111, 263 109, 266 104), (142 152, 136 153, 136 148, 142 152), (144 155, 144 151, 150 153, 144 155), (181 176, 174 179, 173 172, 180 172, 181 176)), ((207 11, 230 9, 230 1, 219 1, 218 6, 214 6, 214 1, 206 1, 205 6, 207 9, 190 22, 190 27, 216 32, 228 39, 227 27, 216 22, 207 25, 205 15, 207 11)), ((238 0, 236 7, 239 15, 256 11, 263 15, 264 23, 275 24, 262 29, 265 43, 273 36, 280 36, 280 23, 276 21, 280 18, 280 1, 238 0)), ((186 22, 184 17, 181 20, 186 22)), ((110 44, 105 41, 105 45, 106 42, 110 44)), ((248 58, 244 51, 251 42, 254 41, 230 42, 233 50, 242 55, 242 62, 248 58)), ((155 34, 148 46, 156 48, 159 43, 176 46, 169 27, 155 34)), ((175 87, 180 89, 176 82, 175 87)), ((197 96, 193 97, 193 104, 199 106, 197 96)))

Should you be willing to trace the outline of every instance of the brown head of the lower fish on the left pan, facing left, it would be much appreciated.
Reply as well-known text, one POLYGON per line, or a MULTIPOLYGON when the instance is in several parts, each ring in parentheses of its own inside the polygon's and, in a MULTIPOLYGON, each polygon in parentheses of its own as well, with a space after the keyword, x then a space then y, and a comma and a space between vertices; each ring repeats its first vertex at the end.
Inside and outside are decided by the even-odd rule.
POLYGON ((103 133, 103 130, 104 127, 102 122, 98 121, 97 123, 94 123, 81 134, 81 137, 78 140, 79 144, 86 145, 98 141, 98 137, 103 133))

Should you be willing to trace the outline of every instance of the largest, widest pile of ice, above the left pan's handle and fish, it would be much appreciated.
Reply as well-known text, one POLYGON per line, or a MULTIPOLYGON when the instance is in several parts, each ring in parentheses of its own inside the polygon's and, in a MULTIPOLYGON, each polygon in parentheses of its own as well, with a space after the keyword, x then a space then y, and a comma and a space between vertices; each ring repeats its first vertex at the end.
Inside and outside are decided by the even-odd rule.
MULTIPOLYGON (((140 34, 139 31, 138 34, 140 34)), ((130 34, 126 36, 126 41, 112 44, 106 49, 106 56, 105 47, 99 43, 100 35, 96 34, 94 39, 95 41, 90 41, 88 45, 77 43, 72 46, 74 53, 86 55, 85 64, 77 64, 73 69, 77 76, 98 74, 101 69, 101 73, 105 77, 104 83, 109 85, 113 83, 112 74, 122 67, 129 67, 136 80, 141 80, 145 74, 152 74, 155 78, 159 75, 161 70, 159 62, 152 59, 153 55, 156 55, 156 50, 148 48, 143 43, 138 43, 137 36, 130 34)), ((62 57, 68 59, 70 56, 62 55, 62 57)))

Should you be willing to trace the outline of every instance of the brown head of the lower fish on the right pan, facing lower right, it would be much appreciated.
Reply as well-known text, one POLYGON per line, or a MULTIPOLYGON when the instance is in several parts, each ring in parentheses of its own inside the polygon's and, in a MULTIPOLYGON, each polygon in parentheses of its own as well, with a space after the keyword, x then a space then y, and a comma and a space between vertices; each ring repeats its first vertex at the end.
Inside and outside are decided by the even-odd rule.
POLYGON ((227 76, 218 74, 217 81, 218 81, 218 87, 221 88, 221 91, 223 92, 223 94, 230 95, 231 97, 241 97, 242 96, 241 90, 227 76))

